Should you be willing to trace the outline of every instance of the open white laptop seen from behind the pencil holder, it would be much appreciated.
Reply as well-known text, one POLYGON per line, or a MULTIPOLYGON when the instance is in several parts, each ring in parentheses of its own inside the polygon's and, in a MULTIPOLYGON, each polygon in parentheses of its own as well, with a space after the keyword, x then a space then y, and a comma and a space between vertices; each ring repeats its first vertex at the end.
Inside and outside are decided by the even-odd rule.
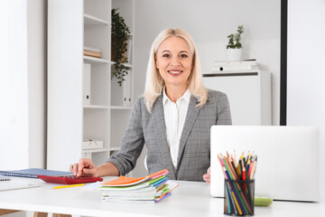
POLYGON ((318 127, 212 126, 210 193, 224 197, 224 175, 217 154, 236 150, 257 155, 255 196, 284 201, 320 201, 318 127))

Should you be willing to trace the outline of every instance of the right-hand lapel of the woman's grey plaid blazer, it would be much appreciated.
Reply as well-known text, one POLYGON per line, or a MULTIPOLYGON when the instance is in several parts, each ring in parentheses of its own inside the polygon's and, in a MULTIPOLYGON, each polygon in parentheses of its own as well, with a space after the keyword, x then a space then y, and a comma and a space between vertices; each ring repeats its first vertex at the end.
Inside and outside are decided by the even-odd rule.
POLYGON ((195 120, 198 117, 200 108, 196 106, 197 105, 197 99, 194 96, 190 97, 190 103, 189 103, 189 109, 186 114, 184 127, 181 132, 181 139, 180 139, 180 149, 179 154, 177 156, 177 169, 176 174, 178 172, 178 169, 180 167, 181 157, 183 155, 184 147, 186 144, 186 141, 188 140, 190 136, 190 132, 192 127, 194 126, 195 120))

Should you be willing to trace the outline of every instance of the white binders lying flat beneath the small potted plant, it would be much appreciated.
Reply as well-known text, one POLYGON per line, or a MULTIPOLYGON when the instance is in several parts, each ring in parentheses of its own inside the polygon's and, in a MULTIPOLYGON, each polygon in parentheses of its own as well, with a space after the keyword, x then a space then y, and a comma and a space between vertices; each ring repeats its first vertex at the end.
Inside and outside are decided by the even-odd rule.
POLYGON ((258 70, 257 61, 255 59, 246 61, 215 61, 211 69, 212 72, 251 70, 258 70))

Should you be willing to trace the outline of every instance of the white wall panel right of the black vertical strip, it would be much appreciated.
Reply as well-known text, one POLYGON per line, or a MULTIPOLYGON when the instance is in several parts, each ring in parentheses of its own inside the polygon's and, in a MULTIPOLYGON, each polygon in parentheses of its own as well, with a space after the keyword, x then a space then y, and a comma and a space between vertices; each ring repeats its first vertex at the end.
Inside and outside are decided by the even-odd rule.
MULTIPOLYGON (((321 187, 325 195, 324 12, 323 0, 289 1, 287 125, 320 127, 321 187)), ((302 164, 306 163, 302 158, 302 164)))

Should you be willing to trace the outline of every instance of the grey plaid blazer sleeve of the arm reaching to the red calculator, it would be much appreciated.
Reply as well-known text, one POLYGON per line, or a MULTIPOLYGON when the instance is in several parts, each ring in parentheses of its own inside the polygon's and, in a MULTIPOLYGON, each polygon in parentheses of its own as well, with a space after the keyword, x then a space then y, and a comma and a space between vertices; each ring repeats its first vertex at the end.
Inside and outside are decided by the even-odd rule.
MULTIPOLYGON (((114 137, 114 135, 112 135, 114 137)), ((116 156, 111 156, 107 162, 116 165, 119 175, 125 175, 135 168, 136 160, 144 148, 144 131, 142 126, 141 99, 135 99, 135 106, 122 138, 122 145, 116 156)))

